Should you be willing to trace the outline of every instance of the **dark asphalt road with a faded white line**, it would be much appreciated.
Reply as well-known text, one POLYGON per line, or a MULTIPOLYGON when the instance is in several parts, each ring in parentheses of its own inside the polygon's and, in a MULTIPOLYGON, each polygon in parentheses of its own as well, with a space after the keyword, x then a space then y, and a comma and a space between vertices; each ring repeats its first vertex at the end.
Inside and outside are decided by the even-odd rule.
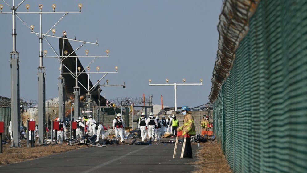
POLYGON ((1 173, 36 172, 191 172, 198 147, 192 145, 193 159, 180 159, 182 144, 109 145, 88 147, 75 151, 49 155, 34 160, 0 167, 1 173))

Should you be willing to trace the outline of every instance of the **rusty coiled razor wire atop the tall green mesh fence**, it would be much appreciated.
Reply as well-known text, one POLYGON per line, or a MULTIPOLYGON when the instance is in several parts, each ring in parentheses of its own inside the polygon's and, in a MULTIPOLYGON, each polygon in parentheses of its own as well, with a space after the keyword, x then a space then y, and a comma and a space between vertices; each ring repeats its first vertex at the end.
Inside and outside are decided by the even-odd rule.
POLYGON ((259 0, 226 0, 219 16, 219 45, 212 72, 212 86, 209 95, 211 103, 219 95, 219 90, 229 76, 235 60, 235 51, 248 32, 248 21, 256 11, 259 0), (235 27, 234 27, 235 26, 235 27))

